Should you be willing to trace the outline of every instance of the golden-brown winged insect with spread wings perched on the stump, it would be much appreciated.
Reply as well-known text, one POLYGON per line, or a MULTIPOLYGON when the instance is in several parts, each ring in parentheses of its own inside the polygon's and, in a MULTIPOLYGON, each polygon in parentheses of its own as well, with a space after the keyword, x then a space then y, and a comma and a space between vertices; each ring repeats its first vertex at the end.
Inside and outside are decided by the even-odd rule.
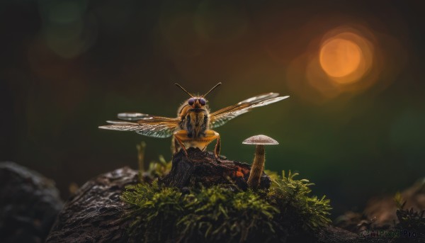
POLYGON ((99 128, 134 131, 149 137, 174 136, 172 145, 174 145, 175 152, 178 152, 179 148, 181 148, 186 156, 188 154, 186 148, 198 147, 205 150, 212 141, 217 140, 214 154, 215 157, 218 157, 220 154, 220 135, 212 128, 217 128, 238 115, 251 111, 253 108, 266 106, 289 97, 279 96, 278 93, 260 94, 247 98, 233 106, 227 106, 210 113, 205 96, 220 85, 221 83, 216 84, 202 96, 193 96, 180 84, 176 84, 176 86, 191 96, 177 110, 177 118, 166 118, 144 113, 119 113, 118 118, 120 120, 108 120, 107 123, 111 123, 110 125, 103 125, 99 128))

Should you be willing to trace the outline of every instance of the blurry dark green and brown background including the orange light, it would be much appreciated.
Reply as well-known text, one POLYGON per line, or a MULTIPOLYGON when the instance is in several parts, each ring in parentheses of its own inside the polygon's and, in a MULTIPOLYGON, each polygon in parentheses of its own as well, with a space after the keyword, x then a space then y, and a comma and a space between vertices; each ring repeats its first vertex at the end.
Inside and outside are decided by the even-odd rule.
MULTIPOLYGON (((425 175, 420 1, 2 1, 0 160, 70 183, 171 159, 170 139, 98 130, 123 111, 176 116, 188 96, 212 111, 263 92, 290 95, 217 129, 222 154, 293 170, 334 216, 425 175)), ((212 145, 210 145, 212 147, 212 145)))

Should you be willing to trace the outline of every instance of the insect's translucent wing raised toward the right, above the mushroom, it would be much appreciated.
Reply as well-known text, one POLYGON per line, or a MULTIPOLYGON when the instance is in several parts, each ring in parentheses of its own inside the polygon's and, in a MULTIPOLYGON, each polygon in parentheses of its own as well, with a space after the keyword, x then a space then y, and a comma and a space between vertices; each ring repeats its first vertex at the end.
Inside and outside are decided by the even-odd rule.
POLYGON ((251 111, 253 108, 266 106, 271 103, 281 101, 289 96, 279 96, 278 93, 260 94, 251 98, 247 98, 244 101, 237 103, 234 106, 227 106, 218 111, 210 114, 210 125, 211 128, 220 127, 227 123, 229 120, 251 111))

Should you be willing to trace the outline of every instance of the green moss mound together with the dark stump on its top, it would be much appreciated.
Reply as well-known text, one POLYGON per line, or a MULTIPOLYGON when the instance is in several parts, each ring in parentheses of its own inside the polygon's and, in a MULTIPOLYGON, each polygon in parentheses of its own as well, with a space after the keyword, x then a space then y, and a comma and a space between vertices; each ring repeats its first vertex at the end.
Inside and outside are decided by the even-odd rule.
POLYGON ((315 242, 331 222, 329 200, 310 196, 313 184, 297 174, 271 174, 273 181, 263 174, 269 182, 253 191, 246 187, 248 164, 188 152, 174 156, 171 175, 159 183, 123 193, 131 205, 130 242, 315 242))

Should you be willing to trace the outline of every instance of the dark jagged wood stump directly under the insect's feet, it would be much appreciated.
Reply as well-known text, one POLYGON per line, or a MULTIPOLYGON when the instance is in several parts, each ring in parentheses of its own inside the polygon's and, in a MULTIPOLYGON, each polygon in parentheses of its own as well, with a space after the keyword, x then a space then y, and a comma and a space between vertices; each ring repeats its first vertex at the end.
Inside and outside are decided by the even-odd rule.
MULTIPOLYGON (((242 162, 235 162, 216 158, 210 152, 202 152, 200 149, 189 148, 188 156, 183 150, 174 154, 171 171, 160 180, 165 186, 212 186, 217 184, 236 185, 242 190, 248 188, 249 171, 251 166, 242 162)), ((266 174, 261 176, 259 188, 269 188, 271 179, 266 174)))

